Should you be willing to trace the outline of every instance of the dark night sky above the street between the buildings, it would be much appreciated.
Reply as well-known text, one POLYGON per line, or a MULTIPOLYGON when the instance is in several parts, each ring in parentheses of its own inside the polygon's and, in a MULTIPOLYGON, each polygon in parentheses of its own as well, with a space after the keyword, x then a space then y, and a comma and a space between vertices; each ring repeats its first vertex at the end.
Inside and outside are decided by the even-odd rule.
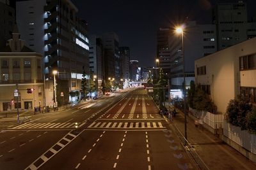
MULTIPOLYGON (((237 2, 238 0, 221 1, 237 2)), ((88 22, 89 34, 114 31, 120 46, 129 46, 139 66, 155 66, 156 31, 177 25, 188 17, 198 24, 211 24, 214 0, 73 0, 79 17, 88 22)), ((256 11, 255 0, 247 0, 256 11)), ((253 12, 254 12, 253 11, 253 12)))

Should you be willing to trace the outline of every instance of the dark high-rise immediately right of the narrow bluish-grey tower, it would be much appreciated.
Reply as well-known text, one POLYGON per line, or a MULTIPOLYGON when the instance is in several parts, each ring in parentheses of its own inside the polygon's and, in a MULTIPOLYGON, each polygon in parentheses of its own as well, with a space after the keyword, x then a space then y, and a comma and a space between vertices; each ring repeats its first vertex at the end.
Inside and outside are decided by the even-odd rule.
POLYGON ((119 39, 115 32, 102 34, 104 47, 104 69, 106 78, 120 80, 119 39))

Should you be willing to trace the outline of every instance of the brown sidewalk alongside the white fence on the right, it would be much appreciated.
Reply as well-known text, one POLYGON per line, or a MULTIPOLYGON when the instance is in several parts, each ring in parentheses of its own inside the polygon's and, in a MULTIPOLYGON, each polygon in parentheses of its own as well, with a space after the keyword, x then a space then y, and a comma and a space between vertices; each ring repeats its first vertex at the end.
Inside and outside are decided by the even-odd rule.
MULTIPOLYGON (((173 118, 171 127, 177 133, 184 136, 184 113, 177 110, 178 113, 173 118)), ((256 169, 256 164, 246 159, 241 153, 237 152, 231 146, 223 143, 218 136, 204 129, 195 127, 191 115, 187 117, 188 142, 193 152, 202 159, 206 169, 256 169)), ((190 148, 188 146, 188 148, 190 148)), ((198 158, 196 158, 198 159, 198 158)))

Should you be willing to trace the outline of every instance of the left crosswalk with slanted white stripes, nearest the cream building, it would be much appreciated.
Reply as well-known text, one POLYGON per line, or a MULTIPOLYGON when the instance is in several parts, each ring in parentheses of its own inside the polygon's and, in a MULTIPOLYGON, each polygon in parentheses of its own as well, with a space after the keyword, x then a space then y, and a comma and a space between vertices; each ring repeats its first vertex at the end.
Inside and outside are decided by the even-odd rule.
MULTIPOLYGON (((84 125, 85 122, 79 124, 81 127, 84 125)), ((74 122, 67 122, 67 123, 26 123, 21 124, 11 129, 75 129, 76 124, 74 122)))

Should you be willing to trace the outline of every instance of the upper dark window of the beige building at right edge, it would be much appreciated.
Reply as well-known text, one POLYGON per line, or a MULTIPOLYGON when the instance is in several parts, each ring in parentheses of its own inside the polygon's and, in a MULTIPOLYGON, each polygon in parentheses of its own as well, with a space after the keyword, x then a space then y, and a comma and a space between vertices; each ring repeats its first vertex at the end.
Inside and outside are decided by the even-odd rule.
POLYGON ((239 57, 239 69, 240 71, 256 69, 256 53, 239 57))

